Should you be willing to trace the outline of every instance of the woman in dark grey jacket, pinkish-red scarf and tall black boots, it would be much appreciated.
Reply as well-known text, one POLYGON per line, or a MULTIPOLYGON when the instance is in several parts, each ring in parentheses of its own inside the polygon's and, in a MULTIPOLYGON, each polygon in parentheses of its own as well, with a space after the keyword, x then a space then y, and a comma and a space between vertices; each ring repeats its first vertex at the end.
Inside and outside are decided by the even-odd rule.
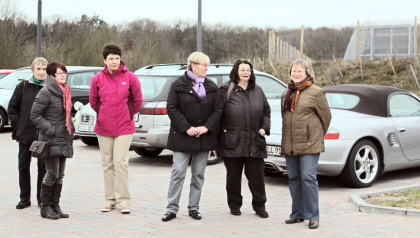
POLYGON ((48 219, 68 218, 59 206, 66 158, 73 157, 74 125, 71 121, 71 93, 66 83, 67 69, 54 61, 47 66, 46 86, 35 98, 31 120, 39 129, 39 140, 49 141, 45 160, 47 173, 42 181, 41 216, 48 219))

